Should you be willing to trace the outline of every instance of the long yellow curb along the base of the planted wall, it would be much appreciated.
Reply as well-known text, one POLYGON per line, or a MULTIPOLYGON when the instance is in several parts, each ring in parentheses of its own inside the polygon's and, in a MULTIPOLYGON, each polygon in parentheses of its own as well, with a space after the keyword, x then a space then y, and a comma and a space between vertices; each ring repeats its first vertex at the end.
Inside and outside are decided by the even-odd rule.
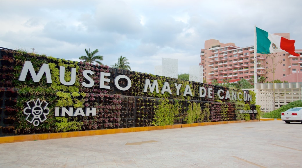
POLYGON ((193 127, 193 126, 244 123, 244 122, 254 122, 254 121, 259 121, 259 120, 219 121, 219 122, 192 123, 192 124, 175 124, 172 126, 170 125, 169 126, 145 126, 145 127, 120 128, 120 129, 98 129, 98 130, 89 130, 89 131, 15 135, 15 136, 0 137, 0 144, 11 143, 11 142, 45 140, 45 139, 71 138, 71 137, 81 137, 81 136, 90 136, 90 135, 105 135, 105 134, 117 134, 117 133, 126 133, 126 132, 152 131, 152 130, 160 130, 160 129, 185 128, 185 127, 193 127))

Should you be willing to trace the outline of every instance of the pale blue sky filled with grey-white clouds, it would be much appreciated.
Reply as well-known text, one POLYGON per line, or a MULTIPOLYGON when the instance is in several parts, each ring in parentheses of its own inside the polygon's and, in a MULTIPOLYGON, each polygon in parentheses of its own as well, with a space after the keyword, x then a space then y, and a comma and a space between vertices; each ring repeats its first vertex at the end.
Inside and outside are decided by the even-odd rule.
POLYGON ((205 40, 253 45, 254 25, 302 49, 301 9, 301 0, 1 0, 0 46, 73 61, 98 49, 103 64, 122 55, 146 73, 176 58, 188 73, 205 40))

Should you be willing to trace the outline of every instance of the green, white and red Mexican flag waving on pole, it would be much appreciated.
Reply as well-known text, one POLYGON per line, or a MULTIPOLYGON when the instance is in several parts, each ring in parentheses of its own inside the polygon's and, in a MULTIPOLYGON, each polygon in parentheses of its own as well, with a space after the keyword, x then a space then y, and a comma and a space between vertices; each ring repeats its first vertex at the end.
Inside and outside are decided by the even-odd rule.
POLYGON ((270 54, 287 51, 291 55, 300 56, 295 53, 295 40, 289 40, 275 34, 270 34, 258 27, 256 27, 256 38, 257 53, 270 54))

